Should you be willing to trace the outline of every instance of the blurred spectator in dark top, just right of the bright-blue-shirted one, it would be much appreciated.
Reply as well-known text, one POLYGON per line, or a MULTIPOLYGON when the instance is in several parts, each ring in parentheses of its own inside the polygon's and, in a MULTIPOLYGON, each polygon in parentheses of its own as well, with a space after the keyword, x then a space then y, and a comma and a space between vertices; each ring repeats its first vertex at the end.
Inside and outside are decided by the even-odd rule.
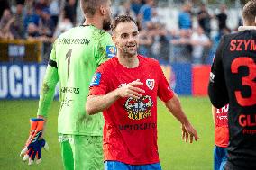
POLYGON ((211 33, 211 16, 207 11, 206 4, 201 4, 200 11, 197 13, 197 22, 201 28, 210 37, 211 33))

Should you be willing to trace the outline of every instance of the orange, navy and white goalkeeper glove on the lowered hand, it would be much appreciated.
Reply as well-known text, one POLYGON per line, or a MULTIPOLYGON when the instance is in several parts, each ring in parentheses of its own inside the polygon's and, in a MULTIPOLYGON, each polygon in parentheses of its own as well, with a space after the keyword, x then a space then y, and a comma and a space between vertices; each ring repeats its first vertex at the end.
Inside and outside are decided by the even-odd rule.
POLYGON ((41 148, 48 150, 49 147, 46 141, 41 138, 44 120, 31 119, 30 122, 30 135, 27 139, 25 147, 21 152, 21 156, 23 156, 23 161, 29 159, 29 165, 32 165, 35 157, 37 158, 37 164, 41 162, 41 148))

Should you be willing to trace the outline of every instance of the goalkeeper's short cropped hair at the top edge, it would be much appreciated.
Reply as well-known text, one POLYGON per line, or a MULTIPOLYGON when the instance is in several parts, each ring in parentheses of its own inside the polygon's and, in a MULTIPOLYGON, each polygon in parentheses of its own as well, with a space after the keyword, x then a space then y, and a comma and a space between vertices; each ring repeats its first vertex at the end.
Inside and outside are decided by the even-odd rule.
POLYGON ((88 16, 94 16, 97 7, 106 4, 107 0, 81 0, 81 8, 83 13, 88 16))

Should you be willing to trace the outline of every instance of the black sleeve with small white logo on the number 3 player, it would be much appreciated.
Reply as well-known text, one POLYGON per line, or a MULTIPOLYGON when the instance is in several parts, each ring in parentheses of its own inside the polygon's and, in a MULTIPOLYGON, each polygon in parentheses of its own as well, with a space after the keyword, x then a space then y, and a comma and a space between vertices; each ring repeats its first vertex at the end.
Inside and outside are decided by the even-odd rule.
POLYGON ((215 53, 214 63, 211 67, 208 95, 211 103, 216 108, 221 108, 229 102, 228 93, 224 80, 224 68, 222 53, 224 49, 224 37, 219 43, 215 53))

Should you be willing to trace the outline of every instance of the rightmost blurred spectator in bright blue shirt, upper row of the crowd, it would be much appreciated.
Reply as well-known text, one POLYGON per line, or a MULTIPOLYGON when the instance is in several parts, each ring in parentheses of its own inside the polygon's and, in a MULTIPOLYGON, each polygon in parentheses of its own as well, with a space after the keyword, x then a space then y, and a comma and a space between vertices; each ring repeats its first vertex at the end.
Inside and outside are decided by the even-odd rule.
POLYGON ((182 11, 178 13, 178 28, 179 29, 191 29, 192 19, 191 19, 191 4, 184 4, 182 6, 182 11))

